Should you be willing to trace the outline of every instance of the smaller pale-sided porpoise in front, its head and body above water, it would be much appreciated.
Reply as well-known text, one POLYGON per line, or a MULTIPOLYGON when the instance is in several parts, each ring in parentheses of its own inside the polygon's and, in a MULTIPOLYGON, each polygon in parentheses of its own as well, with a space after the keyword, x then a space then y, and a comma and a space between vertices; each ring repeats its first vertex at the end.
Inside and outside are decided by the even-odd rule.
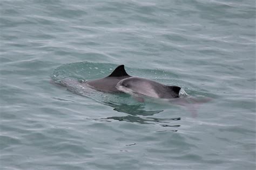
POLYGON ((128 77, 120 80, 116 88, 131 95, 143 95, 153 98, 177 98, 181 89, 178 86, 166 86, 140 77, 128 77))

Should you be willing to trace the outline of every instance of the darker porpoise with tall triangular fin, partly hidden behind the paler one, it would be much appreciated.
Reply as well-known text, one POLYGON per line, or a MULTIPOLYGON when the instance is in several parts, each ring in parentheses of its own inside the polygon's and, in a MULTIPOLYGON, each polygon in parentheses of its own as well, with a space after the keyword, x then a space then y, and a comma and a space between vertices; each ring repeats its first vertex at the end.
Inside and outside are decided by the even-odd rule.
POLYGON ((86 84, 89 84, 90 87, 106 92, 122 92, 116 88, 117 83, 122 80, 131 77, 125 72, 124 65, 118 66, 113 72, 103 79, 89 80, 86 81, 86 84))

